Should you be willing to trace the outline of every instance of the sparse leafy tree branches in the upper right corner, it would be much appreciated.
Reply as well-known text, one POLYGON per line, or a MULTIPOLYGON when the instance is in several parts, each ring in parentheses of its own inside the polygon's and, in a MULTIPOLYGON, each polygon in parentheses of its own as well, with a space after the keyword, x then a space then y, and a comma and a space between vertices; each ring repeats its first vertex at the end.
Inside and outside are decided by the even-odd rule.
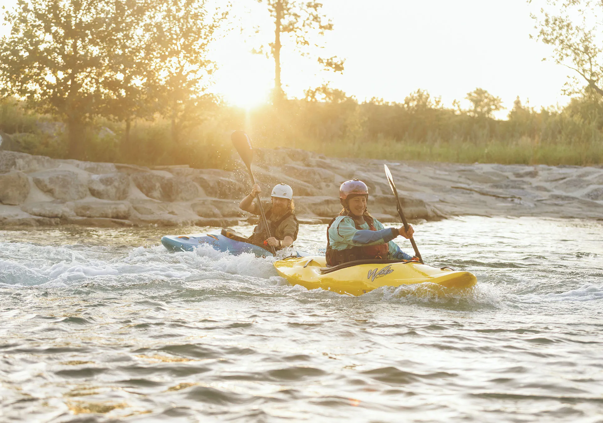
MULTIPOLYGON (((531 0, 529 0, 531 1, 531 0)), ((537 39, 553 47, 555 63, 575 70, 580 78, 570 77, 563 92, 582 91, 584 81, 603 95, 603 2, 592 0, 547 0, 548 11, 532 14, 537 39)))

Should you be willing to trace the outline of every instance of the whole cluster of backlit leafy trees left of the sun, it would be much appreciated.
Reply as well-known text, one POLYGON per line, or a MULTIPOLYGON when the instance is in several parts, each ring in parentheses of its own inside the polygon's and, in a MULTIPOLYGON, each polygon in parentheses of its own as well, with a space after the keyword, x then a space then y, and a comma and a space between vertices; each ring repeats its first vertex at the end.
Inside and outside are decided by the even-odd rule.
POLYGON ((18 0, 0 40, 0 94, 66 124, 69 157, 83 158, 87 127, 169 116, 172 142, 199 121, 213 64, 209 43, 226 13, 206 0, 18 0), (212 11, 209 11, 212 10, 212 11))

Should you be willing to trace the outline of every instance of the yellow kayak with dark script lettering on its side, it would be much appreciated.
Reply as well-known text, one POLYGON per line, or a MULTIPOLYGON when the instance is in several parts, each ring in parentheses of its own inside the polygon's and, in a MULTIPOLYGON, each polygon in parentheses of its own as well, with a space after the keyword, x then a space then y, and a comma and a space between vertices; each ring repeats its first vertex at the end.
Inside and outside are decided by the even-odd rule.
POLYGON ((293 285, 348 295, 362 295, 382 286, 429 282, 446 288, 466 288, 477 282, 470 272, 396 260, 357 260, 326 268, 324 256, 288 257, 275 262, 274 267, 293 285))

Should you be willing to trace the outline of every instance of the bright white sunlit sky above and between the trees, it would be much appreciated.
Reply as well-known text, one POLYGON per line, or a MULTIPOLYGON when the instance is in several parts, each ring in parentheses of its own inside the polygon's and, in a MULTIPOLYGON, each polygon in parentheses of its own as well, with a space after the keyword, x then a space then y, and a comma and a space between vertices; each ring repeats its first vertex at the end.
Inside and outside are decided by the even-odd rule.
MULTIPOLYGON (((328 81, 359 101, 374 96, 399 102, 420 88, 449 106, 481 87, 502 98, 507 110, 499 118, 507 116, 518 95, 537 108, 564 105, 568 98, 561 87, 570 71, 541 61, 551 48, 529 39, 535 33, 529 14, 544 2, 323 0, 335 28, 316 39, 325 47, 318 53, 346 58, 346 69, 343 75, 321 72, 314 55, 301 57, 285 40, 283 88, 300 98, 308 87, 328 81)), ((274 62, 251 49, 271 42, 274 28, 264 5, 233 3, 224 37, 212 52, 219 65, 212 90, 230 104, 252 107, 267 100, 274 62)))

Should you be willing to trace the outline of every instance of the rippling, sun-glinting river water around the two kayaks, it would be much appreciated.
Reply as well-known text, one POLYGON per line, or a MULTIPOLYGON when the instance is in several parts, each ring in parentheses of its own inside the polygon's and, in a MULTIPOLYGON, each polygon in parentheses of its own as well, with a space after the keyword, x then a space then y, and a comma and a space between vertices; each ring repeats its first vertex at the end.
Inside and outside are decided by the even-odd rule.
POLYGON ((603 222, 415 231, 475 289, 350 297, 165 228, 0 231, 0 421, 603 422, 603 222))

